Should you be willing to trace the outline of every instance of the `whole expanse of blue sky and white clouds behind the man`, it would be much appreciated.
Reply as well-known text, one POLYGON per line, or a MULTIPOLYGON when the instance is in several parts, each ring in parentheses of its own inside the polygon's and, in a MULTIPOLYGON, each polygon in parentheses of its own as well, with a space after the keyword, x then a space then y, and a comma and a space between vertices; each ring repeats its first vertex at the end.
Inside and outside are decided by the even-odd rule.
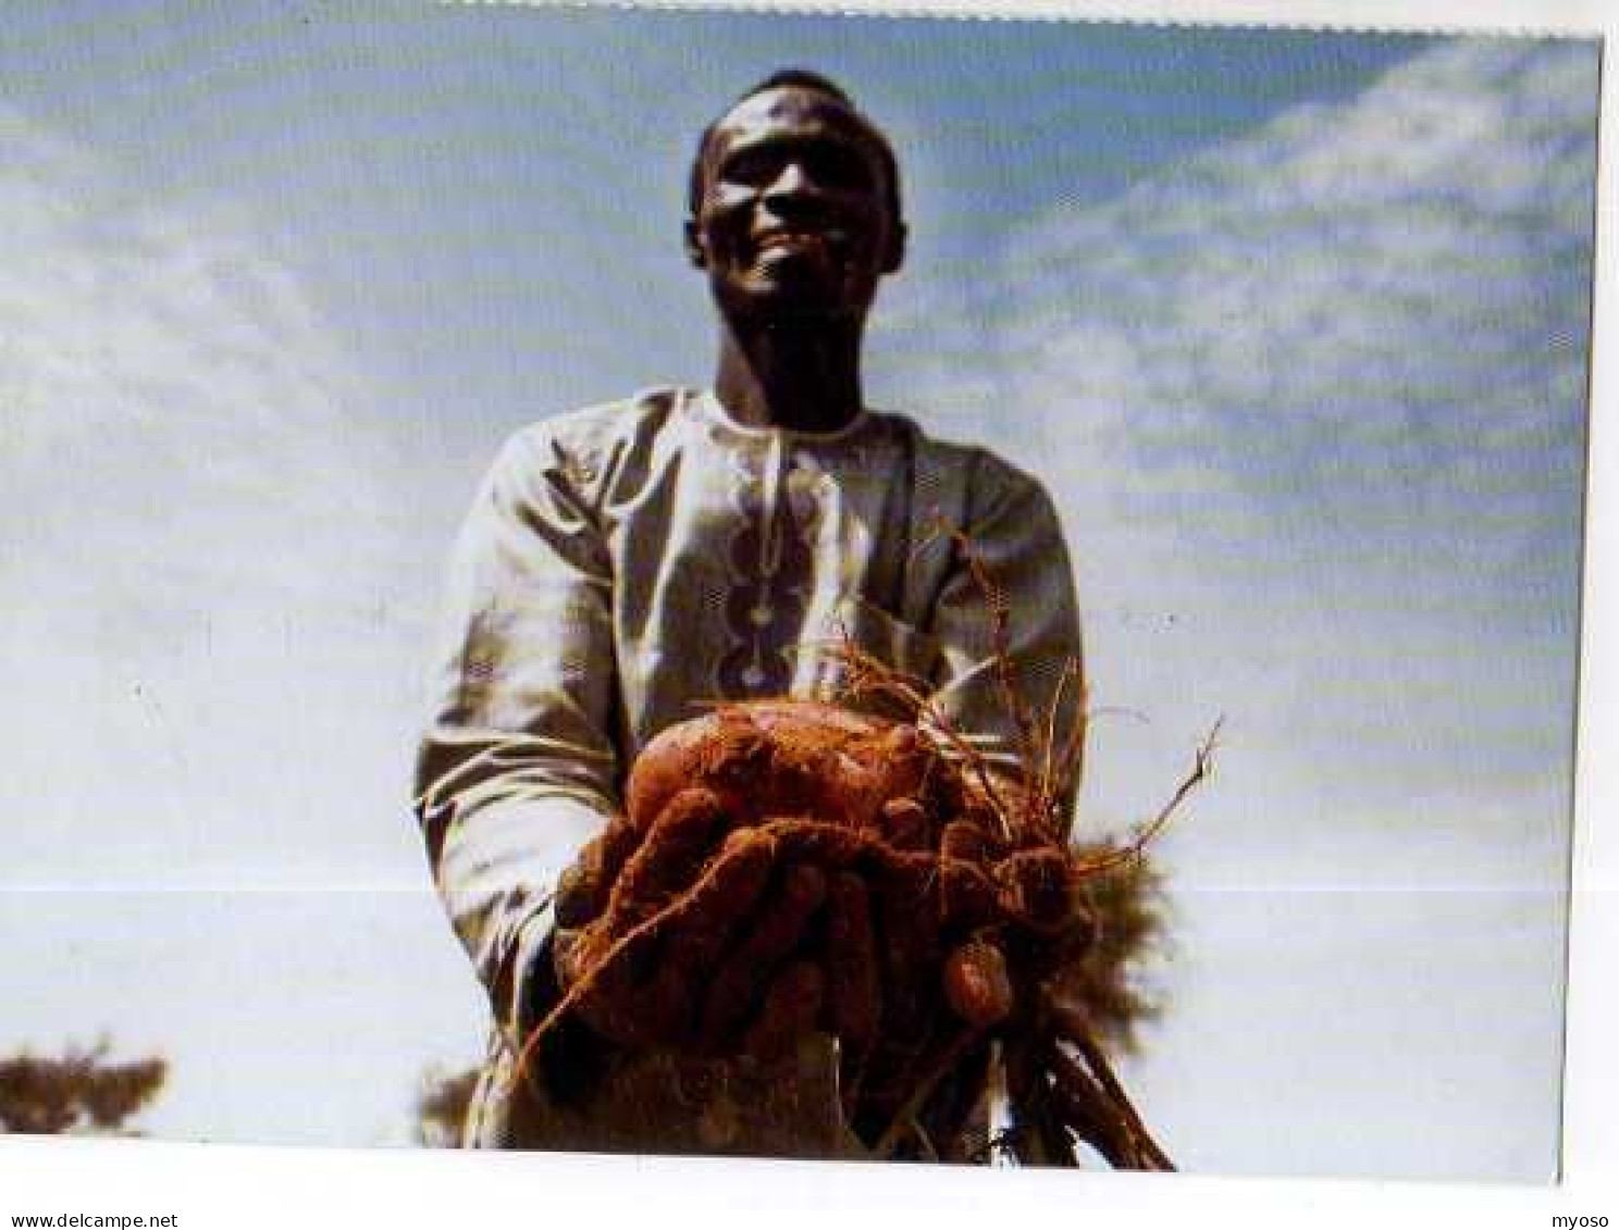
POLYGON ((15 5, 0 1049, 105 1031, 173 1060, 151 1130, 311 1143, 478 1054, 405 803, 442 558, 505 434, 704 379, 685 163, 784 63, 907 170, 873 400, 1057 495, 1081 824, 1226 720, 1128 1065, 1171 1152, 1548 1177, 1580 42, 15 5))

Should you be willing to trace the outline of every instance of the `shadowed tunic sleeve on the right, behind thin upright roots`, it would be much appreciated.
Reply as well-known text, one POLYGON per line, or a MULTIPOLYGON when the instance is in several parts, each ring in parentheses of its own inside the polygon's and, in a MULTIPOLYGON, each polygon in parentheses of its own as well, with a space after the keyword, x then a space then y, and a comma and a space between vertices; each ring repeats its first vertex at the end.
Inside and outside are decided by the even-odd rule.
MULTIPOLYGON (((941 644, 934 699, 957 730, 1022 780, 1025 757, 1035 759, 1038 772, 1047 743, 1062 748, 1083 740, 1073 568, 1044 487, 986 455, 971 476, 962 529, 970 547, 955 547, 933 610, 931 630, 941 644), (978 560, 976 573, 968 550, 978 560), (997 605, 1005 615, 999 646, 997 605), (1009 699, 1007 683, 1015 699, 1009 699)), ((1075 757, 1056 791, 1070 821, 1078 767, 1075 757)))

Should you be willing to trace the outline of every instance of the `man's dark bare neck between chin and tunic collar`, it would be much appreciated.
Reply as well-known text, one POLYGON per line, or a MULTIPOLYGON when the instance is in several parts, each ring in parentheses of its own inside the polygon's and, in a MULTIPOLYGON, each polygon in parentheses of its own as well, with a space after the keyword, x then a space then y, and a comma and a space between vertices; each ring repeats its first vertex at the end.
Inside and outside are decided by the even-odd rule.
POLYGON ((750 427, 827 432, 861 409, 858 324, 813 322, 720 337, 714 393, 750 427))

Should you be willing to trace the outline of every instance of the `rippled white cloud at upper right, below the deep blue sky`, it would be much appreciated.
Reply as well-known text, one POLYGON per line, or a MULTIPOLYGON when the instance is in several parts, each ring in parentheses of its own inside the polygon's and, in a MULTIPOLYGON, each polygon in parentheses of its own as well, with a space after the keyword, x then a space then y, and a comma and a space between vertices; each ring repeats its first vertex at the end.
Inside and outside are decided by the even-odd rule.
POLYGON ((1132 521, 1185 528, 1190 461, 1211 529, 1321 510, 1353 520, 1319 528, 1339 539, 1567 557, 1595 71, 1588 47, 1460 42, 1046 218, 1001 288, 1031 304, 999 338, 1018 400, 1049 443, 1077 429, 1070 464, 1127 469, 1132 521), (1514 532, 1475 539, 1481 515, 1514 532))

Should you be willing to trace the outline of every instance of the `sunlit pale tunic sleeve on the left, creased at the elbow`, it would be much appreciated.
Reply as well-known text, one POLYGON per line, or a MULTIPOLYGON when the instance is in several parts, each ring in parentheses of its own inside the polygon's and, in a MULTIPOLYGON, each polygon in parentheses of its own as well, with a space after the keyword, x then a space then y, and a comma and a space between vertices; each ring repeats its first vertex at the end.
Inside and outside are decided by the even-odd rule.
POLYGON ((416 762, 439 893, 504 1023, 557 876, 617 808, 612 568, 580 473, 531 429, 484 481, 453 554, 416 762))

